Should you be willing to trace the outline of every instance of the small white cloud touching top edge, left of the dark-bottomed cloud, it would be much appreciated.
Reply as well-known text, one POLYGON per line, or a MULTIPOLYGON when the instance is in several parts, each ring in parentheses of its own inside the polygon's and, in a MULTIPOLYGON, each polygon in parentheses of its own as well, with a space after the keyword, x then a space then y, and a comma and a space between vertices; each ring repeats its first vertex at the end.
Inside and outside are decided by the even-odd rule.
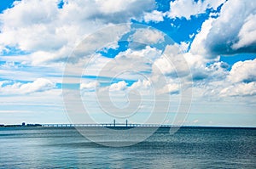
POLYGON ((167 15, 170 18, 184 17, 189 20, 192 15, 205 13, 207 8, 213 8, 216 10, 218 6, 224 2, 225 0, 199 0, 197 2, 194 0, 171 1, 170 11, 167 13, 167 15))

